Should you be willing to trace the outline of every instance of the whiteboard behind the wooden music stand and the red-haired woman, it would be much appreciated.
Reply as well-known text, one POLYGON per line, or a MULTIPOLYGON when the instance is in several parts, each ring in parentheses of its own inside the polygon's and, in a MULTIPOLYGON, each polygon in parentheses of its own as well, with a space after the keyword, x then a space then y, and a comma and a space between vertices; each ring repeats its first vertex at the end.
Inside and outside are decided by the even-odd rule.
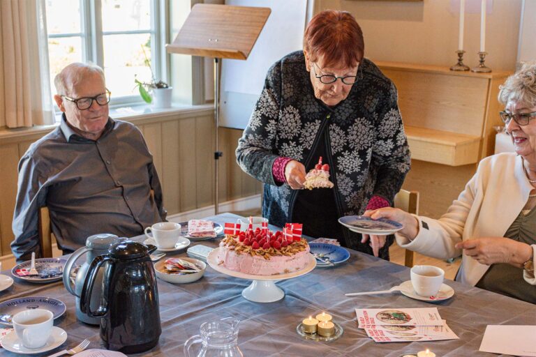
POLYGON ((303 48, 307 0, 226 0, 225 4, 271 8, 248 59, 223 59, 221 64, 220 126, 244 129, 270 66, 303 48))

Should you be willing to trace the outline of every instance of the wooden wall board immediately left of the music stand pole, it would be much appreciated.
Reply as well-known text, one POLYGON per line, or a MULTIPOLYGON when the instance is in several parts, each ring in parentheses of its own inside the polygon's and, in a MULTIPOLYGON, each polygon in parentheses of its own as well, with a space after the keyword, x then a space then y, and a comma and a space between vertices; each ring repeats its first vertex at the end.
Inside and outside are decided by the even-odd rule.
POLYGON ((195 121, 195 163, 197 206, 214 204, 214 117, 199 116, 195 121))

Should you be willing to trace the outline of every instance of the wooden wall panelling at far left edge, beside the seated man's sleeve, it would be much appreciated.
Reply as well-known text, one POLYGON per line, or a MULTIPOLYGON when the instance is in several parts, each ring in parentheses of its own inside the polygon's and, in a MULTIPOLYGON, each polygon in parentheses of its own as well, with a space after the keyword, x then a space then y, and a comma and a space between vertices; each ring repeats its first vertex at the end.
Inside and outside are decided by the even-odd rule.
POLYGON ((19 163, 19 147, 17 143, 0 145, 0 250, 1 255, 10 254, 10 243, 13 241, 13 208, 17 195, 17 165, 19 163))

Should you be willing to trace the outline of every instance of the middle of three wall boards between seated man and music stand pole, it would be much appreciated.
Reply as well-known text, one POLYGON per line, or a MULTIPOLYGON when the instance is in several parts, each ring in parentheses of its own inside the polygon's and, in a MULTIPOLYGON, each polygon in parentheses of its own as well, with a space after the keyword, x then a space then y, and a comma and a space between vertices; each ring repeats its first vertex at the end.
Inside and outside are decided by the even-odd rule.
MULTIPOLYGON (((191 211, 197 208, 197 165, 196 165, 195 118, 179 121, 179 202, 180 210, 191 211)), ((206 167, 204 168, 206 169, 206 167)))

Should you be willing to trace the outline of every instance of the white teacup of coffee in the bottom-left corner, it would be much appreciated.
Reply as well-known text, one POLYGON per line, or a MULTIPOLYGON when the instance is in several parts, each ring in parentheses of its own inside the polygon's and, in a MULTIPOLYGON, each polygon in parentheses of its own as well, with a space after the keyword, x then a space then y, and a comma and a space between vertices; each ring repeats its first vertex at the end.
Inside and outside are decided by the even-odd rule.
POLYGON ((24 310, 13 316, 13 328, 24 347, 38 349, 45 346, 54 325, 54 314, 48 310, 24 310))

